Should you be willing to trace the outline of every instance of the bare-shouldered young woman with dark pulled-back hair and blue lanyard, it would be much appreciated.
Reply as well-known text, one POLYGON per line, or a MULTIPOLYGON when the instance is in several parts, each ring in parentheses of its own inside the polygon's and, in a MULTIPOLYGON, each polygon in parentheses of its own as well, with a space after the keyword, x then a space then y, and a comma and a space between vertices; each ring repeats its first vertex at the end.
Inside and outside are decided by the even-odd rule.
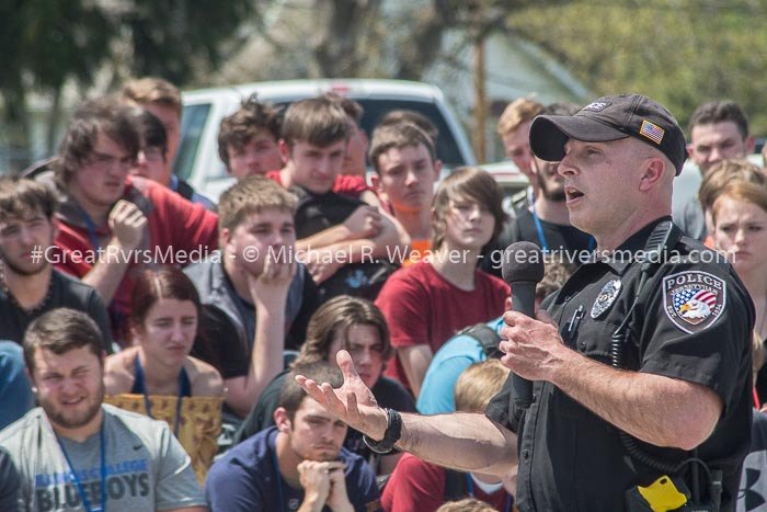
POLYGON ((142 272, 131 296, 134 346, 106 359, 104 401, 167 421, 203 483, 217 452, 224 380, 188 355, 199 311, 197 291, 183 272, 142 272))

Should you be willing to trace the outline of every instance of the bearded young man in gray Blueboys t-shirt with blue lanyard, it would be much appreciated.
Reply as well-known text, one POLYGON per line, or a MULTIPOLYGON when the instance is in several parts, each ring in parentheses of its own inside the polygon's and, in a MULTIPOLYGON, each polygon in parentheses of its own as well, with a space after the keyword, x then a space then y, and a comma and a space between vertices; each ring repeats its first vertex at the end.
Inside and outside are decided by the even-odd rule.
POLYGON ((207 510, 168 425, 103 405, 95 323, 54 309, 24 335, 41 407, 0 432, 21 476, 19 510, 207 510))

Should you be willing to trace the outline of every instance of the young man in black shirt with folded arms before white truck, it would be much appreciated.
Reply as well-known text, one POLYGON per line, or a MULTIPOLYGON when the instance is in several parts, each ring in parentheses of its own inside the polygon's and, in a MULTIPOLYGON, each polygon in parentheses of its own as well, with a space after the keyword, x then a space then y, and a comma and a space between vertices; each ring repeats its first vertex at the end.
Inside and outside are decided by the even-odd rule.
POLYGON ((324 282, 344 266, 388 260, 397 248, 407 251, 409 237, 380 209, 332 192, 350 136, 348 117, 337 102, 321 96, 294 103, 282 129, 279 149, 286 164, 279 179, 299 195, 296 248, 305 252, 325 298, 341 293, 364 295, 355 288, 370 277, 367 269, 339 276, 342 283, 337 286, 324 282))

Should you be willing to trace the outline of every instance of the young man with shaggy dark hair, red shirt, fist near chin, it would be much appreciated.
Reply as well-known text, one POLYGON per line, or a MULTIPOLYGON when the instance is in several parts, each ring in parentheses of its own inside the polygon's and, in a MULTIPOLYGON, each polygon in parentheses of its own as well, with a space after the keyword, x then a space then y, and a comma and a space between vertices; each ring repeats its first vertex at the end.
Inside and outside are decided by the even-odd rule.
POLYGON ((84 103, 61 144, 56 268, 93 286, 108 305, 115 341, 127 340, 133 272, 185 265, 218 247, 218 217, 159 183, 131 177, 141 149, 129 106, 84 103))

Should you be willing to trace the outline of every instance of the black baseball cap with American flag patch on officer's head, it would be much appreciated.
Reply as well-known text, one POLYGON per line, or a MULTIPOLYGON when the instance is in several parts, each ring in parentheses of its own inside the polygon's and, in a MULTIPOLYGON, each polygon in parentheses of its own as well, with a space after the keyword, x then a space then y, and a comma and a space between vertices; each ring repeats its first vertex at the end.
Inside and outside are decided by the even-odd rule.
POLYGON ((530 149, 536 157, 557 162, 564 158, 568 139, 607 143, 634 137, 660 149, 676 168, 687 158, 685 134, 663 105, 641 94, 602 96, 575 115, 539 115, 530 125, 530 149))

